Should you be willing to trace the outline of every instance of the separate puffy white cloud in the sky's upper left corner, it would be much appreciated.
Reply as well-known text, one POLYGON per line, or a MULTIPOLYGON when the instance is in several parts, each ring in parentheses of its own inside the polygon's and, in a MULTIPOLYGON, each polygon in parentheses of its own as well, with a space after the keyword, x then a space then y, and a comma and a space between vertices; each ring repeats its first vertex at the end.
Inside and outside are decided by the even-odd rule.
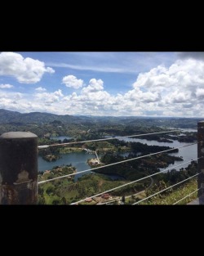
POLYGON ((12 76, 19 83, 38 83, 44 73, 55 73, 55 70, 45 67, 44 62, 24 58, 19 53, 0 53, 0 75, 12 76))

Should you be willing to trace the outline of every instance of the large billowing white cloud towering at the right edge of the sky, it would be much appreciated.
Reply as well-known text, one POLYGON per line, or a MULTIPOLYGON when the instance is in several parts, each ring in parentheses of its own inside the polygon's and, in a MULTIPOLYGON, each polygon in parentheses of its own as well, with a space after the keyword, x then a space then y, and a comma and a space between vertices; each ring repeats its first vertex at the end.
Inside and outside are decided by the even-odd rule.
MULTIPOLYGON (((197 105, 204 104, 204 62, 192 58, 175 61, 169 68, 158 65, 140 73, 126 100, 148 103, 144 110, 163 110, 162 115, 201 116, 197 105), (187 110, 188 109, 188 110, 187 110)), ((203 106, 202 106, 203 107, 203 106)), ((162 113, 162 112, 161 112, 162 113)))

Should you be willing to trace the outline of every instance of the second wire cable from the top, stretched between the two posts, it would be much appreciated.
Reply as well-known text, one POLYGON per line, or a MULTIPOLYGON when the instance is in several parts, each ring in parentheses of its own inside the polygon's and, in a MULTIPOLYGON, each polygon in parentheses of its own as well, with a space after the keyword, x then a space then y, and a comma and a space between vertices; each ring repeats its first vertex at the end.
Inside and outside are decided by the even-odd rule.
MULTIPOLYGON (((78 172, 78 173, 86 173, 86 172, 94 171, 94 170, 99 169, 99 168, 105 168, 105 167, 113 166, 113 165, 116 165, 116 164, 122 164, 122 163, 126 163, 126 162, 129 162, 129 161, 133 161, 135 159, 142 159, 144 157, 148 157, 148 156, 151 156, 151 155, 157 155, 157 154, 165 153, 165 152, 168 152, 168 151, 171 151, 171 150, 177 150, 177 149, 183 148, 185 146, 192 146, 192 145, 195 145, 195 144, 197 144, 197 142, 192 143, 192 144, 188 144, 188 145, 184 145, 184 146, 179 146, 179 147, 171 148, 170 150, 162 150, 162 151, 159 151, 159 152, 156 152, 156 153, 152 153, 152 154, 149 154, 149 155, 141 155, 141 156, 138 156, 138 157, 135 157, 135 158, 122 160, 120 162, 116 162, 116 163, 112 163, 112 164, 106 164, 106 165, 102 165, 102 166, 95 167, 95 168, 89 168, 87 170, 84 170, 84 171, 78 172)), ((64 176, 60 176, 60 177, 53 177, 53 178, 51 178, 49 180, 38 182, 38 184, 42 184, 42 183, 46 183, 46 182, 51 182, 51 181, 54 181, 56 179, 60 179, 60 178, 63 178, 63 177, 70 177, 70 176, 76 175, 78 173, 71 173, 71 174, 67 174, 67 175, 64 175, 64 176)))

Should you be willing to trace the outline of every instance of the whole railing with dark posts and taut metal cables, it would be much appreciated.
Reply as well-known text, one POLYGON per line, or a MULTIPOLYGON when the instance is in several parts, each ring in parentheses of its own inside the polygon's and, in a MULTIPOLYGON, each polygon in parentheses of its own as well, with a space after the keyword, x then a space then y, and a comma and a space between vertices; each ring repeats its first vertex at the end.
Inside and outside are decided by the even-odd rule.
MULTIPOLYGON (((178 130, 171 130, 167 132, 175 132, 178 130)), ((146 133, 146 134, 137 134, 131 135, 126 137, 141 137, 141 136, 148 136, 153 134, 159 133, 167 133, 167 132, 153 132, 153 133, 146 133)), ((38 146, 38 137, 31 133, 31 132, 6 132, 3 133, 0 137, 0 204, 37 204, 38 203, 38 186, 46 182, 51 182, 57 179, 62 179, 64 177, 72 177, 77 173, 71 173, 67 175, 63 175, 60 177, 54 177, 48 179, 46 181, 38 182, 38 150, 52 147, 52 146, 68 146, 72 144, 79 144, 79 143, 86 143, 92 141, 108 141, 113 139, 118 139, 122 137, 107 137, 97 140, 89 140, 89 141, 75 141, 75 142, 67 142, 67 143, 60 143, 60 144, 52 144, 52 145, 44 145, 38 146)), ((190 179, 197 177, 197 190, 189 193, 188 195, 183 196, 180 200, 176 201, 174 204, 178 204, 180 201, 184 200, 190 195, 193 195, 197 192, 198 198, 203 197, 203 188, 204 188, 204 121, 199 122, 197 124, 197 142, 191 143, 185 146, 193 146, 197 144, 197 158, 191 159, 186 161, 182 164, 178 164, 175 167, 179 167, 183 164, 188 164, 193 161, 197 161, 197 174, 193 175, 192 177, 188 177, 181 182, 177 182, 172 186, 166 187, 162 191, 158 191, 153 195, 149 195, 142 200, 136 201, 134 204, 140 204, 145 200, 149 200, 149 198, 161 194, 163 191, 167 191, 174 186, 178 186, 183 182, 186 182, 190 179)), ((179 146, 175 149, 180 149, 185 146, 179 146)), ((125 159, 116 163, 112 164, 105 164, 100 167, 96 168, 89 168, 83 170, 80 173, 87 173, 90 171, 95 171, 96 169, 100 168, 107 168, 116 164, 123 164, 129 161, 134 161, 136 159, 143 159, 149 156, 162 154, 170 150, 162 150, 160 152, 152 153, 149 155, 142 155, 132 159, 125 159)), ((172 168, 166 168, 159 173, 166 172, 172 168)), ((116 191, 122 187, 130 186, 135 182, 140 182, 147 178, 152 178, 159 173, 153 173, 151 175, 147 175, 146 177, 142 177, 132 182, 126 182, 121 186, 116 186, 112 189, 107 191, 100 192, 96 195, 91 195, 89 198, 95 198, 96 196, 104 195, 111 191, 116 191)), ((131 195, 129 195, 131 196, 131 195)), ((78 200, 72 204, 79 204, 87 200, 83 198, 82 200, 78 200)), ((120 199, 116 199, 120 200, 120 199)), ((105 204, 105 203, 104 203, 105 204)))

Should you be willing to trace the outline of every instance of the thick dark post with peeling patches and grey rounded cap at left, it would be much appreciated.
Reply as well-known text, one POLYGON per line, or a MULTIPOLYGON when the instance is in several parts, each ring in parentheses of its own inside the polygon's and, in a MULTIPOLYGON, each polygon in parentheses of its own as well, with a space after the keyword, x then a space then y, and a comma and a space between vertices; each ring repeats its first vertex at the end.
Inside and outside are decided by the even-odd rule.
POLYGON ((38 203, 38 136, 6 132, 0 136, 0 204, 38 203))

